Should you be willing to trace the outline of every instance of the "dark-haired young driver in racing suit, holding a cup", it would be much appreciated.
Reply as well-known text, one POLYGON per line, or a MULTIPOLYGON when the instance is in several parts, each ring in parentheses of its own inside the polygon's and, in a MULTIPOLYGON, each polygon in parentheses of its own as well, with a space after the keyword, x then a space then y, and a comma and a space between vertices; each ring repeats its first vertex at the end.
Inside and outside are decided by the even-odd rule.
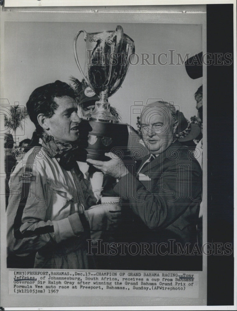
POLYGON ((81 126, 74 91, 55 81, 35 89, 26 107, 42 146, 26 153, 9 181, 8 254, 36 251, 35 268, 94 268, 86 239, 90 231, 113 227, 120 207, 95 206, 78 168, 88 129, 81 126))

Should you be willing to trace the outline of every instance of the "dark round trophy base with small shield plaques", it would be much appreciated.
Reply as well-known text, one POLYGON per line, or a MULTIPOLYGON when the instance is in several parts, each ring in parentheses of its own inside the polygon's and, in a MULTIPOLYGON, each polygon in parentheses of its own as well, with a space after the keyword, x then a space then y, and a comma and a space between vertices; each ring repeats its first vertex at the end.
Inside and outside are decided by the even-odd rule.
POLYGON ((108 161, 107 152, 113 152, 120 158, 129 157, 128 125, 124 123, 109 123, 94 120, 89 122, 91 131, 88 135, 87 159, 108 161))

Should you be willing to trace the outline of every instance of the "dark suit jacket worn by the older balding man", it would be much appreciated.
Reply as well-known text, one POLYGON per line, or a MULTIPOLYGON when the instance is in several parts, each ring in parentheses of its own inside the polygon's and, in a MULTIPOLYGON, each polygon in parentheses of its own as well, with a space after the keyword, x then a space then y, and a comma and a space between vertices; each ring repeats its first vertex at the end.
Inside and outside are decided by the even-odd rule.
POLYGON ((178 141, 145 165, 140 174, 122 177, 114 191, 127 200, 132 211, 130 241, 197 242, 202 170, 190 149, 178 141))

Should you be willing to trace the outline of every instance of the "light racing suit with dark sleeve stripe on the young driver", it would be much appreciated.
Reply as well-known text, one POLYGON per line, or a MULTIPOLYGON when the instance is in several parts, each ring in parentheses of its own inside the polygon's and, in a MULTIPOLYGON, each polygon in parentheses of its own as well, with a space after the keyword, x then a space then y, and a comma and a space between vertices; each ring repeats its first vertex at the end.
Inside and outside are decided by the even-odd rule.
POLYGON ((77 165, 67 171, 43 147, 34 147, 16 165, 9 188, 8 253, 37 251, 35 268, 91 267, 83 211, 96 199, 77 165))

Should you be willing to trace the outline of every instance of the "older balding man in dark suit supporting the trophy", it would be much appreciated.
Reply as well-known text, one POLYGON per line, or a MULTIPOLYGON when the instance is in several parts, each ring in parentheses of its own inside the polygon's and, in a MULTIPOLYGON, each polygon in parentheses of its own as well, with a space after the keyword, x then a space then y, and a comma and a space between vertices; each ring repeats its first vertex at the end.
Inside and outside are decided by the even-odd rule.
POLYGON ((118 179, 114 191, 131 208, 132 221, 127 231, 130 243, 136 242, 140 250, 144 243, 148 247, 144 254, 130 257, 131 265, 127 260, 130 269, 202 268, 202 256, 197 249, 197 256, 182 251, 187 247, 186 253, 190 253, 197 246, 202 170, 192 151, 174 138, 178 126, 175 112, 174 106, 163 101, 144 107, 142 138, 149 155, 134 175, 113 154, 107 162, 88 160, 118 179))

